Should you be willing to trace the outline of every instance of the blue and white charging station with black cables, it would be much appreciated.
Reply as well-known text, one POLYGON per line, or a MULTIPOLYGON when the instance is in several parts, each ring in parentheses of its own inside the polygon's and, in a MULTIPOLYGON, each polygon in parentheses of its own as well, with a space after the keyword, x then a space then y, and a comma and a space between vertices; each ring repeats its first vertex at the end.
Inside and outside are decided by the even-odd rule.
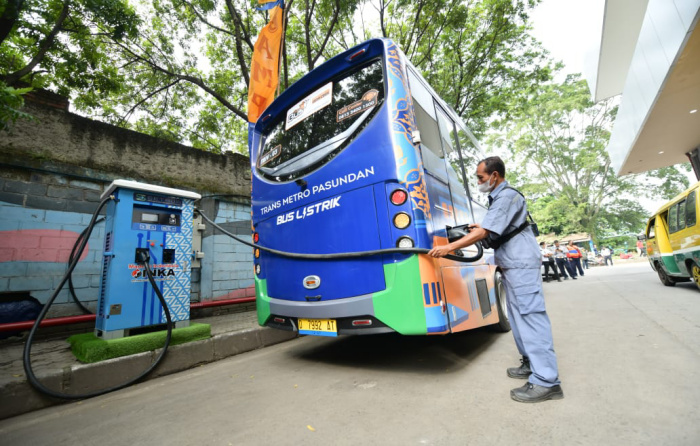
POLYGON ((143 258, 175 327, 189 326, 194 201, 201 195, 129 180, 112 182, 102 199, 110 195, 95 336, 116 339, 166 322, 143 258))

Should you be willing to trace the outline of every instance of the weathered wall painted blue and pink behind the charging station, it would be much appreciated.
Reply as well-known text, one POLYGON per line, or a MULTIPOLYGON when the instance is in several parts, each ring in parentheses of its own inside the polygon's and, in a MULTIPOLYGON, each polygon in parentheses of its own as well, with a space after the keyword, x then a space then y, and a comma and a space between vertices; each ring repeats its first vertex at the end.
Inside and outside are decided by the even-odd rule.
MULTIPOLYGON (((99 197, 119 178, 193 190, 227 230, 250 237, 249 160, 217 155, 27 102, 34 121, 0 133, 0 301, 29 293, 45 302, 63 276, 71 248, 99 197)), ((81 302, 94 309, 104 224, 95 227, 73 273, 81 302)), ((192 299, 254 296, 251 250, 211 227, 205 258, 193 270, 192 299)), ((51 315, 79 314, 68 288, 51 315)))

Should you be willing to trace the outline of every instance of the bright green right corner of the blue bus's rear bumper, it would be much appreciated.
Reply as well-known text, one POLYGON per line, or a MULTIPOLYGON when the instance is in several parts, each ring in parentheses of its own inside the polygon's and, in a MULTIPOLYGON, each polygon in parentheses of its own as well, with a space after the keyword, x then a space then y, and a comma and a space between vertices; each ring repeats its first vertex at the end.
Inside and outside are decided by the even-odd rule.
POLYGON ((375 317, 401 334, 426 334, 418 256, 384 265, 384 277, 386 289, 372 295, 375 317))

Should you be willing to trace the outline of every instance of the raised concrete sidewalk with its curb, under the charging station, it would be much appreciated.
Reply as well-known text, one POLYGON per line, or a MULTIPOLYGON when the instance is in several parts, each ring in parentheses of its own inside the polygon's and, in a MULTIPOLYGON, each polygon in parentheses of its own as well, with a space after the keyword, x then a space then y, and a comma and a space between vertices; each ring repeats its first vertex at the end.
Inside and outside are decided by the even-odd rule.
MULTIPOLYGON (((220 311, 219 307, 200 310, 199 313, 209 316, 193 319, 193 322, 210 324, 212 337, 168 348, 163 362, 145 379, 169 375, 296 337, 296 333, 260 327, 255 311, 215 315, 220 311)), ((83 325, 78 332, 89 332, 94 328, 94 324, 83 325)), ((32 348, 32 367, 39 381, 61 393, 90 393, 118 385, 143 372, 160 353, 158 350, 82 364, 65 342, 68 336, 54 333, 35 341, 32 348)), ((0 419, 65 402, 42 395, 27 382, 22 366, 23 348, 24 342, 17 339, 0 342, 0 419)))

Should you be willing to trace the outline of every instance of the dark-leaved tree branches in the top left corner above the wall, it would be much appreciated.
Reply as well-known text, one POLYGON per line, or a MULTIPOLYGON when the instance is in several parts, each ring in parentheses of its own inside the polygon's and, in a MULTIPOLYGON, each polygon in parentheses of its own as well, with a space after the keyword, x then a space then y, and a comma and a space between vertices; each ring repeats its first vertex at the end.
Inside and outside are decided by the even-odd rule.
POLYGON ((59 94, 120 88, 104 38, 136 35, 139 20, 124 0, 12 0, 0 10, 0 80, 51 86, 59 94))

